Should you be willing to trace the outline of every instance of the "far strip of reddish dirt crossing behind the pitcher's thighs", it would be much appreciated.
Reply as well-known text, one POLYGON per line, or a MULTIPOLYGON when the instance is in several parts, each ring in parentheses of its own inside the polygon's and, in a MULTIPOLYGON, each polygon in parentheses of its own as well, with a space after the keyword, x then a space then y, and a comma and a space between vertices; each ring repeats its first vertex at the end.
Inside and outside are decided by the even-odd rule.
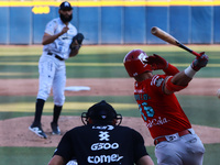
MULTIPOLYGON (((91 90, 66 96, 133 96, 132 78, 75 78, 67 79, 66 86, 89 86, 91 90)), ((36 96, 37 79, 1 79, 0 96, 36 96)), ((177 95, 216 96, 220 78, 194 78, 189 86, 177 95)))

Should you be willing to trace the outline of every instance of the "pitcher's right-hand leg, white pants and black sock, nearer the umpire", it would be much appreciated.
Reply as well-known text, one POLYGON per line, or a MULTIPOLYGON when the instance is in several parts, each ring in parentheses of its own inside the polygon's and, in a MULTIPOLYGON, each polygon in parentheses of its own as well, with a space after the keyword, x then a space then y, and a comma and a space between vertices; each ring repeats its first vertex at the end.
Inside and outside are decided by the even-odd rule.
POLYGON ((65 95, 64 95, 65 86, 66 86, 66 67, 65 65, 61 65, 56 72, 53 82, 54 116, 53 116, 53 121, 51 123, 53 134, 61 134, 61 130, 58 128, 58 118, 61 116, 63 105, 65 102, 65 95))

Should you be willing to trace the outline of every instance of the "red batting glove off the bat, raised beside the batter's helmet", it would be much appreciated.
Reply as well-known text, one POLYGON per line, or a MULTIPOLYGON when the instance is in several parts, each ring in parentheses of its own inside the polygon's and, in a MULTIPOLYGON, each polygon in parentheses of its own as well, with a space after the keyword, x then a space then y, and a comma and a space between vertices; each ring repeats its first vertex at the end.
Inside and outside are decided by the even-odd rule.
POLYGON ((168 67, 168 62, 166 62, 166 59, 156 54, 146 57, 144 63, 151 65, 153 70, 165 69, 168 67))

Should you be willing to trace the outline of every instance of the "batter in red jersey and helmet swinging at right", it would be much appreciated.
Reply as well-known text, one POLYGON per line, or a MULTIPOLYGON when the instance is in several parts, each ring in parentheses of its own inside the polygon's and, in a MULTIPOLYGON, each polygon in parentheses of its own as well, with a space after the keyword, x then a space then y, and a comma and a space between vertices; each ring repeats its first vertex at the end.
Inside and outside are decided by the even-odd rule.
POLYGON ((200 55, 183 72, 158 55, 147 56, 142 50, 133 50, 124 57, 124 67, 135 79, 134 97, 141 117, 156 145, 158 165, 202 165, 205 147, 174 95, 206 67, 208 56, 200 55), (165 75, 153 75, 152 70, 157 69, 165 75))

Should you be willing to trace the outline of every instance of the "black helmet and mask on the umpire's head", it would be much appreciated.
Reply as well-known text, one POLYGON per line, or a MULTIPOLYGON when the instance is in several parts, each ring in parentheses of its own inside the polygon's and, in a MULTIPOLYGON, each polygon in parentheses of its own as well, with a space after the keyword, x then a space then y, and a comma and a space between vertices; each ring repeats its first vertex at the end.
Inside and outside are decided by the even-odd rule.
POLYGON ((85 125, 89 124, 88 119, 90 119, 94 124, 98 123, 120 125, 122 116, 118 114, 113 107, 102 100, 90 107, 87 112, 81 113, 81 121, 85 125))

